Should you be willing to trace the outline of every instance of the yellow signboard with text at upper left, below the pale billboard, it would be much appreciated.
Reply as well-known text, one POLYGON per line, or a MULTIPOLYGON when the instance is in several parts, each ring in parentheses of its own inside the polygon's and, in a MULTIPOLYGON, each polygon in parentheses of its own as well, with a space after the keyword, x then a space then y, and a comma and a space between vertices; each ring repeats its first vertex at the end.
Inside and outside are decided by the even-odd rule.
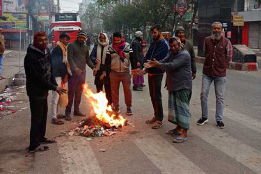
MULTIPOLYGON (((0 26, 4 32, 19 32, 17 27, 26 28, 26 14, 23 13, 3 13, 3 18, 0 19, 0 26)), ((22 29, 26 32, 26 29, 22 29)))

